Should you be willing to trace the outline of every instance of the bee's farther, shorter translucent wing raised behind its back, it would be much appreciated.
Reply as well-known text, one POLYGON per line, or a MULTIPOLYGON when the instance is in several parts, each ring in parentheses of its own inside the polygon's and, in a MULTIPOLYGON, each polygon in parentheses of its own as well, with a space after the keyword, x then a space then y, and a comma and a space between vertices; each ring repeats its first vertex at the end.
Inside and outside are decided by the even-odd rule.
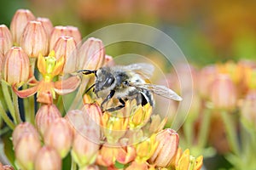
POLYGON ((150 65, 148 63, 137 63, 132 65, 126 65, 123 67, 125 71, 135 71, 137 74, 148 79, 152 77, 154 72, 154 65, 150 65))

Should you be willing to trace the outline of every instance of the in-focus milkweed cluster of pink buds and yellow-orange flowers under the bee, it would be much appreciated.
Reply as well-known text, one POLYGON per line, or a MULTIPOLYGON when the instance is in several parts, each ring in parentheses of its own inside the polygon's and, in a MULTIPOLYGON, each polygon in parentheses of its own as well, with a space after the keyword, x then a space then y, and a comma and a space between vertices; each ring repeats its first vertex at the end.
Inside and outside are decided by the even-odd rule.
POLYGON ((78 28, 53 26, 27 9, 16 11, 10 29, 1 25, 0 36, 0 113, 13 130, 17 168, 61 169, 69 156, 72 169, 201 169, 202 156, 182 151, 178 134, 163 128, 166 119, 152 115, 149 104, 132 100, 122 110, 104 112, 98 99, 85 94, 81 107, 63 111, 63 97, 75 95, 77 101, 73 92, 91 82, 92 77, 74 72, 96 70, 112 60, 101 40, 79 43, 78 28))

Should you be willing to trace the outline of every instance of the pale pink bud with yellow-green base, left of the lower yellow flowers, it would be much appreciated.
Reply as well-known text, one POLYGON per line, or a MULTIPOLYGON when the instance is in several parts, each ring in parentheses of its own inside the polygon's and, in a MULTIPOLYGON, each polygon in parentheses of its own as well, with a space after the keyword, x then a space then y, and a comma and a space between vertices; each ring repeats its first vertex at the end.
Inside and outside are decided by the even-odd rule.
POLYGON ((99 147, 99 136, 96 135, 96 129, 84 127, 83 130, 80 129, 74 135, 71 151, 73 160, 77 162, 79 167, 89 166, 96 161, 99 147))

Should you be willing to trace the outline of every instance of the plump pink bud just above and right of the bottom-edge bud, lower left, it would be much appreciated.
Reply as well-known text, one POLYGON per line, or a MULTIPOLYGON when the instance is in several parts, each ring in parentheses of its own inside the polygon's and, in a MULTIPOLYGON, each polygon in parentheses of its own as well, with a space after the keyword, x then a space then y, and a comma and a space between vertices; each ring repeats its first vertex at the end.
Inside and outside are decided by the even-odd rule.
POLYGON ((49 145, 61 156, 67 156, 73 142, 73 132, 64 118, 57 118, 52 122, 44 133, 44 144, 49 145))

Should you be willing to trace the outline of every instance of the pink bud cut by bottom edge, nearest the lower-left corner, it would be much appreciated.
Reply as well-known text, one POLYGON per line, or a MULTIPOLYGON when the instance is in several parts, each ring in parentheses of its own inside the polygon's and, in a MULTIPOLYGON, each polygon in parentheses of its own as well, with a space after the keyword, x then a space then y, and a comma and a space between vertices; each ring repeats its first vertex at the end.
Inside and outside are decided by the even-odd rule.
POLYGON ((41 142, 33 133, 24 133, 15 147, 15 157, 20 169, 34 169, 35 157, 41 148, 41 142))

